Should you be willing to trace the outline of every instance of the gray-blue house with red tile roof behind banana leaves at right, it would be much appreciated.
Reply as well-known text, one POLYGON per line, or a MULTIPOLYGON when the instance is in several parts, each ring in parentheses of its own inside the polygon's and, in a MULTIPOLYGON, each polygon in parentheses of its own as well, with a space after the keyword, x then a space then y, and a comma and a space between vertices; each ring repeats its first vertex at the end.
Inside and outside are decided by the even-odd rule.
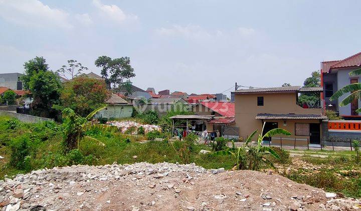
POLYGON ((342 60, 321 62, 322 99, 324 99, 325 108, 338 112, 345 120, 361 120, 361 115, 356 113, 356 110, 361 108, 360 99, 354 100, 345 107, 340 107, 340 102, 347 95, 333 101, 330 100, 330 97, 345 85, 359 83, 361 79, 359 75, 350 76, 348 74, 359 68, 361 68, 361 52, 342 60))

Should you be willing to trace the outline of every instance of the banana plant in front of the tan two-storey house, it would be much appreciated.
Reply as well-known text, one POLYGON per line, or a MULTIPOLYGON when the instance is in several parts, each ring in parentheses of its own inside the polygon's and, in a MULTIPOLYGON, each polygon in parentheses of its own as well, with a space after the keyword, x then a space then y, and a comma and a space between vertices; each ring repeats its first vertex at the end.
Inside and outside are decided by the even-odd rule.
POLYGON ((275 168, 273 163, 267 158, 267 155, 271 155, 276 159, 279 159, 280 156, 270 147, 262 146, 263 139, 266 137, 271 137, 277 134, 283 134, 290 136, 291 133, 281 129, 276 128, 268 131, 263 135, 263 130, 265 127, 263 124, 262 132, 258 135, 257 145, 249 146, 248 144, 252 141, 252 138, 256 135, 258 130, 255 130, 245 141, 244 145, 236 148, 234 142, 232 142, 232 148, 228 148, 222 151, 217 151, 214 154, 216 155, 232 155, 235 158, 236 163, 233 169, 249 169, 249 170, 259 170, 260 164, 268 164, 271 167, 275 168))

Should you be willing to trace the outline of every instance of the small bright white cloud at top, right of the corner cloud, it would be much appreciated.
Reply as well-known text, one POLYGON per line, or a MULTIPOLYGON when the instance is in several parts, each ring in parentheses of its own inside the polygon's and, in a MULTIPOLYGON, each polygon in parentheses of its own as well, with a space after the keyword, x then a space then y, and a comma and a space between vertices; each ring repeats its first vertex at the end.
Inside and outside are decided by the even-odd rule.
POLYGON ((103 17, 106 17, 114 22, 123 23, 126 20, 137 20, 135 15, 125 14, 116 5, 103 5, 100 0, 93 0, 93 5, 98 8, 103 17))

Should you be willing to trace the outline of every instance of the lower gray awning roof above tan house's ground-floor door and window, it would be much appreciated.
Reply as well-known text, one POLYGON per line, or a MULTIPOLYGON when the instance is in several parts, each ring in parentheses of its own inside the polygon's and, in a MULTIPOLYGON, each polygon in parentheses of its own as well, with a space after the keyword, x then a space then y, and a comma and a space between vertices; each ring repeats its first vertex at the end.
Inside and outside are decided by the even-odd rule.
POLYGON ((258 120, 324 120, 326 116, 321 114, 257 114, 258 120))

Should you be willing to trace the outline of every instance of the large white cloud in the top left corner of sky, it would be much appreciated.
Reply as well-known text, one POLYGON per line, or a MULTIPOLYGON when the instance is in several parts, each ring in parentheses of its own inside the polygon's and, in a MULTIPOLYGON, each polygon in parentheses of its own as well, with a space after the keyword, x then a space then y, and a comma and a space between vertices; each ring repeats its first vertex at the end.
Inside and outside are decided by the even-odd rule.
POLYGON ((0 0, 0 17, 20 25, 73 27, 68 20, 69 14, 50 8, 38 0, 0 0))

